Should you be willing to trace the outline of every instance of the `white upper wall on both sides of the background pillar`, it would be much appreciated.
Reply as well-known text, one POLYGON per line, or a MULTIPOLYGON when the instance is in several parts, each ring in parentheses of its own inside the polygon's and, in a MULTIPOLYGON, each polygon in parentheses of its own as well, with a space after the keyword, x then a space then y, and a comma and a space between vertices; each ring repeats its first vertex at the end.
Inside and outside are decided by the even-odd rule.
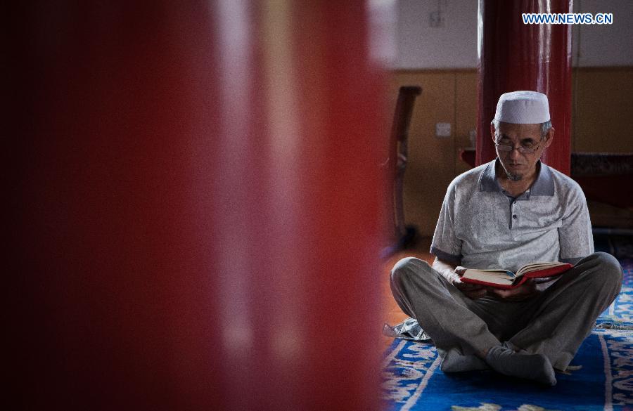
MULTIPOLYGON (((478 0, 399 0, 396 7, 393 68, 477 67, 478 0)), ((575 66, 633 65, 632 0, 575 0, 574 11, 613 13, 613 25, 573 26, 575 66)))

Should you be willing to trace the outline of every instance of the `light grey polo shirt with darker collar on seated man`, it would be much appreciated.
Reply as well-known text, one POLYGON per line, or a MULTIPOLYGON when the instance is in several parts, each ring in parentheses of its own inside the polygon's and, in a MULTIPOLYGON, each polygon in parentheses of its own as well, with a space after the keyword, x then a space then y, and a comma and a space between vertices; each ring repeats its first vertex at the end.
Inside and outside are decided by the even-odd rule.
POLYGON ((457 176, 437 220, 430 252, 467 268, 575 263, 594 252, 587 201, 580 186, 539 162, 539 175, 510 197, 497 181, 495 159, 457 176))

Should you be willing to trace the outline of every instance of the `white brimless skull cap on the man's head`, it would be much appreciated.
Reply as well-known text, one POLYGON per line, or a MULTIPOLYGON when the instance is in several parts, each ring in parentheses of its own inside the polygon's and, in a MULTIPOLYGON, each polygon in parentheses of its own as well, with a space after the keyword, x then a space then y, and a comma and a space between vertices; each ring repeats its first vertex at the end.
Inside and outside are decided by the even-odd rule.
POLYGON ((513 124, 549 122, 547 96, 536 91, 512 91, 501 94, 494 119, 513 124))

